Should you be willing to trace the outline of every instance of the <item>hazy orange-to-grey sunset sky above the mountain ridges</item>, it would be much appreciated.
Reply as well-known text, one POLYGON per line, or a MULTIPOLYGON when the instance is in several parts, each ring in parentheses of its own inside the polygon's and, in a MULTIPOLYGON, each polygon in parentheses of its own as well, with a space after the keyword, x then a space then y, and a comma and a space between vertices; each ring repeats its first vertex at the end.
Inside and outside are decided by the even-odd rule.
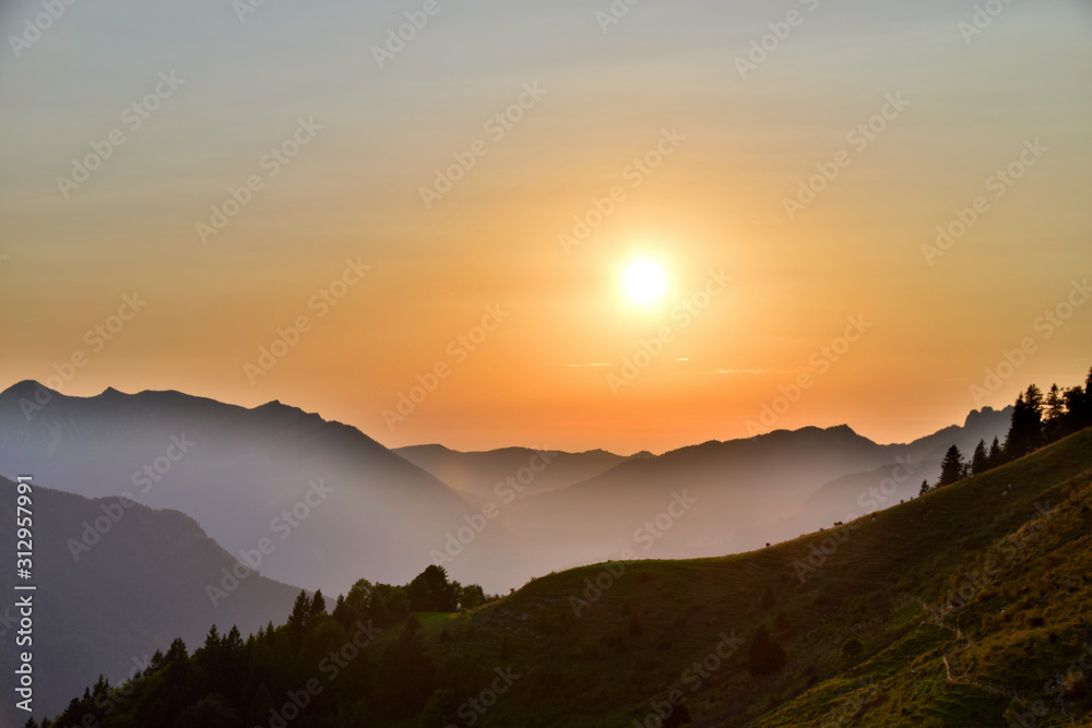
POLYGON ((8 0, 0 32, 0 389, 630 453, 907 441, 1092 366, 1083 0, 8 0))

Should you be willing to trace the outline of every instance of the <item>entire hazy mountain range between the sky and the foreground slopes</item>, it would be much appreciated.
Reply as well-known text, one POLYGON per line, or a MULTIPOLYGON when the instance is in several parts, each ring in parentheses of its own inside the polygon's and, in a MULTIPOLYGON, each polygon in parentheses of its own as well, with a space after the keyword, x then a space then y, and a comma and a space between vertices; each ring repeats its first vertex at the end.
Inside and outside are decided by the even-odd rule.
POLYGON ((877 444, 842 425, 662 455, 550 451, 543 467, 531 449, 391 451, 280 402, 248 409, 112 387, 70 397, 27 381, 0 393, 0 473, 33 472, 88 497, 130 492, 191 515, 235 554, 278 536, 274 527, 289 524, 282 514, 297 508, 306 517, 262 570, 307 588, 343 592, 361 575, 397 582, 440 561, 454 578, 503 592, 616 557, 684 491, 700 505, 657 534, 648 556, 727 553, 814 530, 859 508, 859 491, 827 484, 857 474, 867 488, 900 457, 921 463, 919 482, 953 442, 969 453, 980 437, 1004 435, 1008 418, 986 408, 906 444, 877 444), (194 444, 175 461, 180 437, 194 444), (498 489, 502 481, 518 487, 498 489), (319 493, 328 498, 308 505, 319 493))

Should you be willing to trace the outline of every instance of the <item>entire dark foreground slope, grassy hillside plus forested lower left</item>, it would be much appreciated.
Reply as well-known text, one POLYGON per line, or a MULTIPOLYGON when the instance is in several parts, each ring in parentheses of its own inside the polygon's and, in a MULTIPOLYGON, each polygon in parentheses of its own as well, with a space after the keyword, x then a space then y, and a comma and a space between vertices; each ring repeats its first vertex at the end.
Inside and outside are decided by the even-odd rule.
POLYGON ((585 566, 383 629, 297 602, 273 633, 150 671, 103 725, 168 707, 221 726, 1087 725, 1089 604, 1083 430, 750 553, 585 566))

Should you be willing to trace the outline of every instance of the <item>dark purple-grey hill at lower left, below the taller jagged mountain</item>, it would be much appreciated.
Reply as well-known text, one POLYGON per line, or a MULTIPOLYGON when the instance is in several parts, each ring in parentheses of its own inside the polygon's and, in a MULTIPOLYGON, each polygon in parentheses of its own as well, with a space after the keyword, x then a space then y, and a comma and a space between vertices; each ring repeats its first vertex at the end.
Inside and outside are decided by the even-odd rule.
MULTIPOLYGON (((38 479, 35 478, 35 482, 38 479)), ((0 478, 0 549, 15 552, 15 485, 0 478)), ((292 608, 297 587, 250 573, 214 606, 206 592, 235 559, 189 516, 90 500, 34 486, 33 574, 35 705, 52 712, 103 673, 115 682, 144 669, 156 649, 181 636, 194 642, 211 624, 242 634, 292 608)), ((240 573, 245 573, 241 572, 240 573)), ((20 583, 14 558, 0 563, 0 584, 20 583)), ((230 582, 228 582, 230 585, 230 582)), ((9 595, 14 594, 10 592, 9 595)), ((15 670, 14 598, 0 607, 0 671, 15 670)), ((0 725, 14 726, 12 701, 0 725), (5 720, 7 718, 7 720, 5 720)), ((19 725, 26 719, 24 716, 19 725)))

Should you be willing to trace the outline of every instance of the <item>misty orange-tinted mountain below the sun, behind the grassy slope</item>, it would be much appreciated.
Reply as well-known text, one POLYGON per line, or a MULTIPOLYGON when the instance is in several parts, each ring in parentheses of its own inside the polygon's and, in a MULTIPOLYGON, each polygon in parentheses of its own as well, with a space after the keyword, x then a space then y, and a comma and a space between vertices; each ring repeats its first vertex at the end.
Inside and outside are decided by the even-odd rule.
POLYGON ((618 558, 626 549, 656 558, 749 550, 916 494, 923 477, 939 473, 940 457, 953 443, 970 454, 980 439, 1004 439, 1010 413, 1011 407, 972 413, 964 427, 907 444, 880 445, 842 425, 681 447, 518 503, 511 528, 538 550, 556 553, 558 568, 592 554, 618 558), (907 465, 898 494, 863 506, 862 493, 874 486, 888 490, 883 479, 900 462, 907 465), (842 478, 845 482, 826 488, 842 478), (655 518, 684 491, 697 501, 693 508, 681 517, 661 518, 669 528, 657 527, 655 518))

